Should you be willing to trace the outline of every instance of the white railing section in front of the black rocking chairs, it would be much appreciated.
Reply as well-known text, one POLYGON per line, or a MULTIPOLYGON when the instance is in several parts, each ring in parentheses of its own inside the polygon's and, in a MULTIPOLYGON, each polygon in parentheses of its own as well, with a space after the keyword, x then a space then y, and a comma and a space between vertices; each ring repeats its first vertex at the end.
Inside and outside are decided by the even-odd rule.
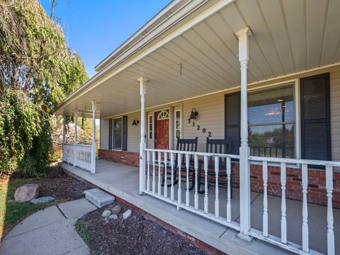
POLYGON ((207 217, 210 220, 218 222, 227 227, 232 227, 239 231, 239 222, 232 221, 232 203, 231 203, 231 167, 232 159, 238 159, 237 155, 227 154, 212 154, 204 152, 179 152, 164 149, 145 149, 147 154, 147 169, 146 169, 146 188, 145 193, 176 205, 178 209, 185 209, 190 212, 194 212, 203 217, 207 217), (212 158, 211 158, 212 157, 212 158), (177 160, 176 160, 177 159, 177 160), (208 161, 213 160, 215 162, 214 169, 208 169, 208 161), (224 159, 223 169, 220 168, 220 159, 224 159), (175 166, 175 162, 177 162, 175 166), (204 195, 203 196, 203 207, 199 207, 199 194, 198 194, 198 171, 199 164, 203 165, 201 169, 202 175, 204 175, 204 195), (166 165, 171 171, 171 174, 167 176, 167 171, 162 171, 166 165), (174 171, 176 170, 176 174, 174 171), (209 208, 209 197, 208 197, 208 171, 215 172, 215 198, 214 206, 209 208), (220 186, 219 176, 220 171, 225 171, 225 177, 227 180, 227 191, 226 206, 222 208, 220 206, 220 186), (192 173, 192 174, 190 174, 192 173), (174 180, 174 176, 178 176, 178 180, 174 180), (192 179, 192 180, 191 180, 192 179), (162 182, 164 180, 164 185, 162 182), (175 181, 176 185, 175 191, 175 181), (178 181, 178 182, 177 182, 178 181), (182 181, 185 185, 182 187, 182 181), (194 181, 195 186, 193 191, 189 191, 190 183, 194 181), (170 188, 168 188, 168 186, 170 188), (168 194, 168 189, 169 193, 168 194), (193 192, 193 201, 191 201, 191 192, 193 192), (170 196, 169 196, 170 195, 170 196), (183 198, 182 198, 183 196, 183 198), (223 215, 221 212, 224 210, 223 215))

